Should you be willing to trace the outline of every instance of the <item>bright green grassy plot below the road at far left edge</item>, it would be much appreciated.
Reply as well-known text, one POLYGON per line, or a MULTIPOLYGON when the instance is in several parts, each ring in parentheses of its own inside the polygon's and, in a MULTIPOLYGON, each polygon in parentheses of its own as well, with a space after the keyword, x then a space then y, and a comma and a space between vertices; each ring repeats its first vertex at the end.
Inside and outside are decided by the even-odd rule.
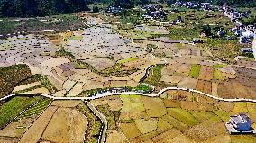
POLYGON ((0 107, 0 128, 13 121, 27 107, 37 103, 40 97, 14 97, 0 107))

